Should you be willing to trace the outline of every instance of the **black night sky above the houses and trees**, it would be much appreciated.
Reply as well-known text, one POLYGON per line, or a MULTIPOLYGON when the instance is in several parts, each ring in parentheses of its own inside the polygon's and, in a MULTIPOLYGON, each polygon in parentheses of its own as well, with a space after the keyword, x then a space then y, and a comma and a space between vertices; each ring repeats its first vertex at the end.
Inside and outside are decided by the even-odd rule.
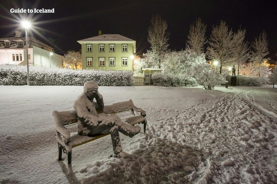
POLYGON ((147 28, 154 14, 160 14, 168 23, 170 32, 169 48, 179 51, 185 48, 189 26, 198 17, 207 24, 206 36, 213 25, 220 20, 237 31, 240 26, 246 29, 246 39, 265 30, 269 42, 269 57, 277 52, 277 3, 276 0, 148 0, 148 1, 11 1, 0 2, 0 37, 10 37, 19 27, 20 17, 33 17, 33 36, 53 47, 63 55, 68 50, 78 51, 81 45, 77 40, 103 34, 120 34, 136 41, 137 53, 150 48, 147 42, 147 28), (11 13, 10 9, 55 9, 55 13, 11 13))

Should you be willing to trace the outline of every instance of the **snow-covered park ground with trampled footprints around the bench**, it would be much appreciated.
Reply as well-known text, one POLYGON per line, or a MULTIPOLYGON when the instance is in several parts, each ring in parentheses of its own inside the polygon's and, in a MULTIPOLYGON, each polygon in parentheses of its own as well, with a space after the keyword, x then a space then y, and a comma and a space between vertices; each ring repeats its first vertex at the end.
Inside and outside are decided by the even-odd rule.
POLYGON ((277 89, 99 87, 106 105, 132 99, 147 133, 109 136, 58 162, 53 110, 73 109, 82 86, 0 86, 0 183, 277 183, 277 89))

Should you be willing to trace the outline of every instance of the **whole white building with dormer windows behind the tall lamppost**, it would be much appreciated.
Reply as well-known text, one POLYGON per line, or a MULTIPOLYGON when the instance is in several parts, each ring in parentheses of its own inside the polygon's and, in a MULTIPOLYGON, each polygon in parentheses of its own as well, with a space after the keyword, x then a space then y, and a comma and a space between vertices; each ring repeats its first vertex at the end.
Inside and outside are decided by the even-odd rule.
MULTIPOLYGON (((35 67, 62 67, 64 56, 34 37, 28 37, 28 62, 35 67)), ((0 64, 26 65, 26 37, 16 31, 14 37, 0 38, 0 64)))

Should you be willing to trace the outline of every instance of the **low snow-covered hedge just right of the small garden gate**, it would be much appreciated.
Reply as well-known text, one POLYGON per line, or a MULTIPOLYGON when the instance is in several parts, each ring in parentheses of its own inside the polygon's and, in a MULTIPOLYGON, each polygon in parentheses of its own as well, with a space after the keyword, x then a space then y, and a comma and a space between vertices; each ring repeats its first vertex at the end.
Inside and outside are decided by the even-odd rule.
POLYGON ((193 78, 185 75, 173 75, 165 73, 154 73, 151 75, 152 82, 155 86, 197 86, 193 78))

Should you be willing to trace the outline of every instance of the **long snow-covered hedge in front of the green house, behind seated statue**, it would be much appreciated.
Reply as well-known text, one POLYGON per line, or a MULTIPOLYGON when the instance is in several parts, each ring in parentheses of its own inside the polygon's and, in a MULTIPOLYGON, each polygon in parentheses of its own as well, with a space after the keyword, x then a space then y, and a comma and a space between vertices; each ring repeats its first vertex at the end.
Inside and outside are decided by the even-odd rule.
MULTIPOLYGON (((83 86, 93 81, 99 86, 133 86, 132 71, 70 70, 64 68, 29 67, 30 85, 83 86)), ((27 67, 0 65, 0 85, 27 85, 27 67)))

